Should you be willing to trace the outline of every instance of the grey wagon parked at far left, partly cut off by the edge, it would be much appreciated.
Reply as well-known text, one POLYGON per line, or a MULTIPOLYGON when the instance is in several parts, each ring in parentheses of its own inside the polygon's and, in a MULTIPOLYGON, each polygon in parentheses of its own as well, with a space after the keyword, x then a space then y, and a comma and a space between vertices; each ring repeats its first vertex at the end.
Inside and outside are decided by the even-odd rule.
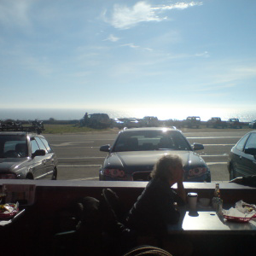
POLYGON ((8 130, 0 132, 0 178, 57 179, 58 160, 44 136, 8 130))

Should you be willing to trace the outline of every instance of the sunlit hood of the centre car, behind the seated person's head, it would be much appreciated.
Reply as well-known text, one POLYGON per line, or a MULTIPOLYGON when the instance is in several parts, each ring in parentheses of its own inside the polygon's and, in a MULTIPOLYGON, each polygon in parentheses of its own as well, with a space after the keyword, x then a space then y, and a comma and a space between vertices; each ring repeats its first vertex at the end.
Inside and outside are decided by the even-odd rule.
MULTIPOLYGON (((129 151, 115 152, 108 155, 104 167, 118 168, 122 167, 127 171, 151 171, 154 164, 161 156, 166 154, 177 154, 182 160, 184 166, 206 166, 201 156, 193 151, 181 150, 158 150, 158 151, 129 151)), ((128 172, 129 172, 128 171, 128 172)))

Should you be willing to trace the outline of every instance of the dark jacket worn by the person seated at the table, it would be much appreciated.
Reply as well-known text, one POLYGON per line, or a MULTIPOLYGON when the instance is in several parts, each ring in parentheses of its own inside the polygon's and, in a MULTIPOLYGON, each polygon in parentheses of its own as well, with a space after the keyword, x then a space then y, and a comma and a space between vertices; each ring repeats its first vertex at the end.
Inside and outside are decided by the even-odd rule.
POLYGON ((153 178, 131 208, 127 225, 145 235, 166 234, 167 224, 177 224, 179 220, 174 202, 183 204, 167 181, 153 178))

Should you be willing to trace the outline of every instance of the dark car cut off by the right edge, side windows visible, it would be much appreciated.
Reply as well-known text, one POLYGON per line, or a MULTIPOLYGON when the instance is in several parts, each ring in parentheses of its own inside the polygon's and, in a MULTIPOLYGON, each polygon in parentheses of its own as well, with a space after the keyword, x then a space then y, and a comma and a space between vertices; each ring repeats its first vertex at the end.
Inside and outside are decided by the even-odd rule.
POLYGON ((256 131, 248 132, 231 148, 228 170, 230 180, 256 174, 256 131))

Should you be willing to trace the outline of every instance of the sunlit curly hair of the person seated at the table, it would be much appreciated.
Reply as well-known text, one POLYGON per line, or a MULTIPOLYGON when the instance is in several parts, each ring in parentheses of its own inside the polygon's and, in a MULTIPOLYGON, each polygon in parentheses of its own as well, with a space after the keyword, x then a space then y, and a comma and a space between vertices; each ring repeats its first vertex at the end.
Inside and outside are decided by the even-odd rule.
POLYGON ((150 173, 150 177, 160 178, 164 180, 172 179, 172 170, 177 166, 183 166, 183 160, 177 155, 164 155, 154 165, 153 171, 150 173), (173 168, 170 169, 169 167, 173 168))

